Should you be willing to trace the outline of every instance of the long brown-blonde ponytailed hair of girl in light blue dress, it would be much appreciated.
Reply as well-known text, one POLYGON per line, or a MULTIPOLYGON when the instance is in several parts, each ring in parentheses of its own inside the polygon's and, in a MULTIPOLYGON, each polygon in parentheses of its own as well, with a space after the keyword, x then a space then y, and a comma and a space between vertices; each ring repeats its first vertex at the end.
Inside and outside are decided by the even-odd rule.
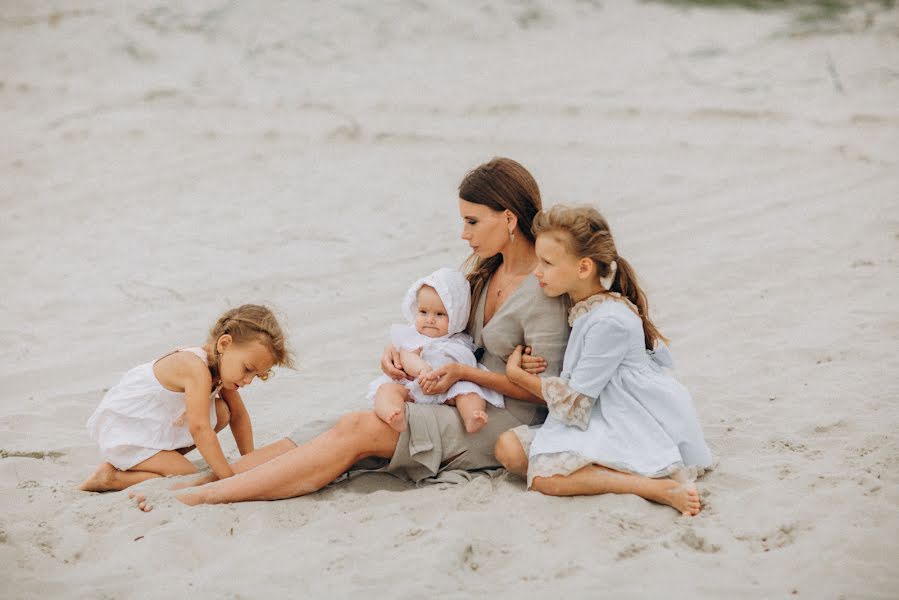
POLYGON ((609 291, 625 296, 637 308, 637 313, 643 321, 646 349, 653 350, 657 341, 668 341, 650 320, 649 301, 640 288, 637 274, 630 263, 618 255, 609 223, 598 210, 592 206, 557 204, 536 216, 533 231, 534 236, 561 234, 558 240, 566 246, 568 252, 578 258, 592 260, 599 277, 607 277, 609 265, 615 261, 618 270, 609 291))

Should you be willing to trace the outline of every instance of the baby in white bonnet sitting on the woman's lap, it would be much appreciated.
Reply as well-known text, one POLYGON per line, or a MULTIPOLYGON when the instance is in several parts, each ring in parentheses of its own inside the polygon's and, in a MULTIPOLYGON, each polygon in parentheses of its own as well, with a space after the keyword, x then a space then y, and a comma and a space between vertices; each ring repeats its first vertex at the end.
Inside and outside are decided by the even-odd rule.
POLYGON ((429 371, 456 362, 479 365, 474 342, 464 333, 471 307, 468 280, 454 269, 438 269, 412 284, 403 299, 403 316, 409 325, 390 329, 400 351, 403 370, 416 379, 395 381, 382 375, 369 385, 375 414, 395 431, 406 430, 405 402, 455 406, 465 430, 475 433, 487 423, 487 403, 504 408, 503 396, 470 381, 457 381, 443 394, 425 394, 421 379, 429 371))

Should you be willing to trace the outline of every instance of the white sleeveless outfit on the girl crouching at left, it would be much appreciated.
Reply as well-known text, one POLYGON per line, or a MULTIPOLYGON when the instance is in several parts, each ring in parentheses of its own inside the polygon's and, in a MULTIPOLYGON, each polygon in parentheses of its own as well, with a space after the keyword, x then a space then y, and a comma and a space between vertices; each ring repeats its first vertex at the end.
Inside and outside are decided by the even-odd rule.
MULTIPOLYGON (((203 348, 176 352, 195 354, 206 364, 203 348)), ((166 355, 168 356, 168 355, 166 355)), ((157 359, 159 360, 159 359, 157 359)), ((183 392, 167 390, 153 373, 156 360, 138 365, 112 387, 87 421, 87 430, 112 466, 122 471, 142 463, 161 450, 179 450, 194 445, 187 422, 183 392)), ((215 397, 209 402, 209 422, 215 427, 215 397)))

